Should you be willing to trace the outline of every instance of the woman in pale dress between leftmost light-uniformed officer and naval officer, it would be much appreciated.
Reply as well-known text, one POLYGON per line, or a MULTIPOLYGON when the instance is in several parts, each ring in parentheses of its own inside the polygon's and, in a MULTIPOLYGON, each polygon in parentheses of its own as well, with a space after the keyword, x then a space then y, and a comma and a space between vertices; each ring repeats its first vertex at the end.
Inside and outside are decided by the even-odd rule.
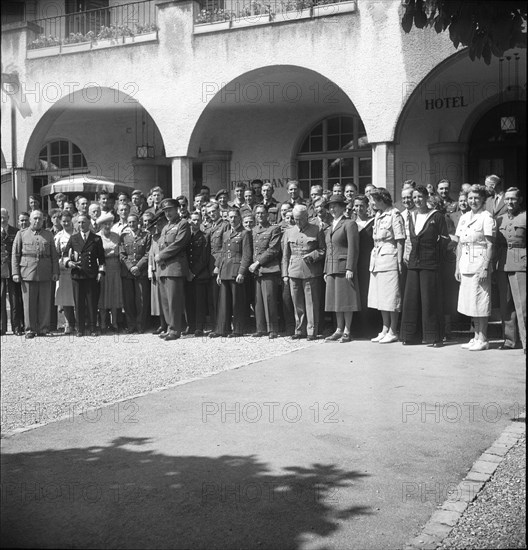
POLYGON ((66 248, 70 237, 73 234, 72 215, 64 210, 60 217, 62 230, 59 231, 55 239, 55 248, 59 254, 59 282, 55 290, 55 305, 62 311, 66 322, 64 324, 64 334, 72 334, 75 328, 75 303, 73 301, 73 286, 71 281, 71 269, 64 265, 62 252, 66 248))

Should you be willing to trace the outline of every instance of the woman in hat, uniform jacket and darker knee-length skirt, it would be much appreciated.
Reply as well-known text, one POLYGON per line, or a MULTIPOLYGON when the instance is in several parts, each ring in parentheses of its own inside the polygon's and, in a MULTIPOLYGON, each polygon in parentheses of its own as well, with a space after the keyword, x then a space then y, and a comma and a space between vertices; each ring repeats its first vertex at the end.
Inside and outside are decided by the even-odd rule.
POLYGON ((330 197, 328 208, 334 221, 325 231, 325 309, 337 317, 337 328, 326 340, 341 343, 350 342, 353 312, 361 309, 356 274, 359 234, 356 222, 345 217, 346 205, 342 195, 330 197))

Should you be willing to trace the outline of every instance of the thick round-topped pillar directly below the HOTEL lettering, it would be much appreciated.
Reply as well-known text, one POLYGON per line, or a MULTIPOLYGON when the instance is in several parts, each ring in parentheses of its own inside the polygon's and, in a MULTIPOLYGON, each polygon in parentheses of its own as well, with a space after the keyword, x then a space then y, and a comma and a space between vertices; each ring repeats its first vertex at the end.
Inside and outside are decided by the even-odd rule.
POLYGON ((466 143, 448 141, 429 145, 429 181, 436 185, 441 179, 451 181, 451 193, 454 196, 467 178, 466 143))

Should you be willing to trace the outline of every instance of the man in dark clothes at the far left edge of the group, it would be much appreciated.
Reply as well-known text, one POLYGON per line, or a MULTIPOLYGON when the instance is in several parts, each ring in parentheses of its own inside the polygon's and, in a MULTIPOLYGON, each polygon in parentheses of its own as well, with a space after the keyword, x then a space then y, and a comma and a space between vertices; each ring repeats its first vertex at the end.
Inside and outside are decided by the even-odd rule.
POLYGON ((24 313, 22 306, 22 290, 20 283, 15 283, 11 275, 11 254, 13 242, 18 232, 16 227, 9 225, 9 213, 1 209, 1 263, 2 263, 2 336, 7 332, 7 295, 9 294, 9 308, 11 310, 11 330, 20 336, 24 333, 24 313))

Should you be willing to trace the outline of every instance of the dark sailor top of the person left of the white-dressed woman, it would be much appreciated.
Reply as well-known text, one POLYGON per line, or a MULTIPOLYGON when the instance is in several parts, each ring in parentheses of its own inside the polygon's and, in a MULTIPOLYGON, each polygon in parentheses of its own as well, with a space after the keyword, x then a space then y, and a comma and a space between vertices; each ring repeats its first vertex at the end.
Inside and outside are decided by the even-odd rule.
POLYGON ((446 260, 447 245, 451 242, 447 231, 445 214, 433 210, 419 233, 414 230, 414 217, 409 218, 411 253, 409 269, 438 269, 446 260))

